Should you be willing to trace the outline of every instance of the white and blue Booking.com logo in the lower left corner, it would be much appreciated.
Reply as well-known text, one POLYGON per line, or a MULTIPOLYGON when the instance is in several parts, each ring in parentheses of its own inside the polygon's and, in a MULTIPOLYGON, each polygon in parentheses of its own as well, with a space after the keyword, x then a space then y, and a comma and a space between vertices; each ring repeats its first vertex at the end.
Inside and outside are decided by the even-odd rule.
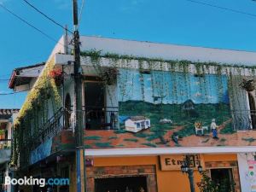
POLYGON ((5 185, 39 185, 39 187, 44 187, 45 185, 69 185, 69 178, 33 178, 23 177, 23 178, 11 178, 5 177, 5 185))

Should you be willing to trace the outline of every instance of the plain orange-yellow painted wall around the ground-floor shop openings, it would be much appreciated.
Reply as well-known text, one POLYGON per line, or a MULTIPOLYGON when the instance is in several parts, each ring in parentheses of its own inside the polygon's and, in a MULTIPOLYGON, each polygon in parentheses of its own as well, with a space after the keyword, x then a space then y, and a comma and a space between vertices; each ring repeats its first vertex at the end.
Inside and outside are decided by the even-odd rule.
MULTIPOLYGON (((236 160, 236 154, 205 154, 204 161, 222 161, 236 160)), ((142 156, 142 157, 112 157, 112 158, 95 158, 94 166, 138 166, 138 165, 155 165, 158 192, 188 192, 189 177, 180 171, 160 171, 158 156, 142 156)), ((201 175, 199 172, 194 172, 195 189, 199 192, 196 186, 200 182, 201 175)))

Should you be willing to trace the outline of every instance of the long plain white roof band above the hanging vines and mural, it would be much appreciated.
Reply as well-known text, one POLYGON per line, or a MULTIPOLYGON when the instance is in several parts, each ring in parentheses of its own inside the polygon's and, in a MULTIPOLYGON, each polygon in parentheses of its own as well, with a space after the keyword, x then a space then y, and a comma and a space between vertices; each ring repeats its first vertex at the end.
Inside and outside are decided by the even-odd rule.
POLYGON ((81 36, 81 51, 101 50, 102 55, 111 53, 118 55, 134 55, 146 58, 161 58, 163 60, 187 60, 192 62, 218 62, 255 66, 256 52, 195 47, 177 44, 160 44, 142 41, 132 41, 114 38, 99 38, 81 36))

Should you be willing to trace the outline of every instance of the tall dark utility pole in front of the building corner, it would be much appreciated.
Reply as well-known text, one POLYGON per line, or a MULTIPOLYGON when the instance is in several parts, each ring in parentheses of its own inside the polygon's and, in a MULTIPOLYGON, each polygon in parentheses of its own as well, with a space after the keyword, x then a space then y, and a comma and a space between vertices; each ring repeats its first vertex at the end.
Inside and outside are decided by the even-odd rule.
MULTIPOLYGON (((78 2, 73 0, 73 46, 74 46, 74 103, 73 110, 75 113, 75 137, 76 137, 76 168, 77 168, 77 192, 82 192, 82 186, 84 186, 84 191, 86 190, 85 174, 84 179, 81 179, 82 167, 84 165, 84 150, 83 150, 83 112, 82 112, 82 81, 81 81, 81 63, 80 63, 80 41, 79 41, 79 29, 78 29, 78 2)), ((85 167, 84 167, 85 169, 85 167)))

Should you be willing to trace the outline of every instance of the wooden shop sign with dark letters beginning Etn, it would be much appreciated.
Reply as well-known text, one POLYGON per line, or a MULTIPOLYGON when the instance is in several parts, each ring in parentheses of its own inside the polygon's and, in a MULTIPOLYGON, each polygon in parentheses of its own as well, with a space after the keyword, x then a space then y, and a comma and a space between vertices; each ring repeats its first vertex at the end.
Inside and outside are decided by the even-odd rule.
MULTIPOLYGON (((181 169, 185 159, 183 154, 160 155, 161 171, 176 171, 181 169)), ((197 166, 203 166, 203 160, 200 154, 190 155, 190 167, 197 169, 197 166)))

